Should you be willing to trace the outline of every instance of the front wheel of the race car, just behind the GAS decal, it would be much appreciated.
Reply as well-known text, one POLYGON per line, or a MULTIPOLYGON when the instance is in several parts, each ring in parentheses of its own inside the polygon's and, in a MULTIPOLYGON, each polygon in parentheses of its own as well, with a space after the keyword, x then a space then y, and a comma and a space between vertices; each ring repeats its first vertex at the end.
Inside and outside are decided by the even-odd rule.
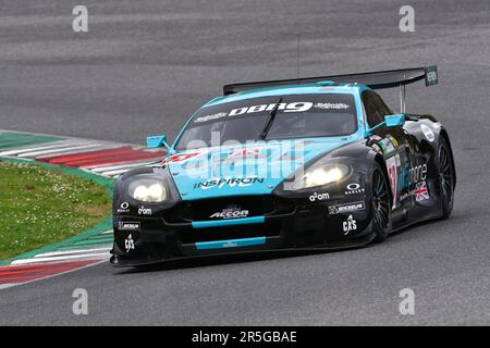
POLYGON ((372 228, 375 241, 387 239, 391 232, 391 204, 387 175, 381 166, 376 163, 372 173, 372 228))

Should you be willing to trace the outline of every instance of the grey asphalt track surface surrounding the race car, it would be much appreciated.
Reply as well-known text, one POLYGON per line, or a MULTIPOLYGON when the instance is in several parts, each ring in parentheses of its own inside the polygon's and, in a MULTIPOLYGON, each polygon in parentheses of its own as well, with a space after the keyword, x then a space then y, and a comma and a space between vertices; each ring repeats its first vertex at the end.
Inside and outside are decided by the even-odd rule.
MULTIPOLYGON (((490 324, 490 2, 0 1, 0 128, 124 142, 172 138, 222 85, 437 63, 407 110, 452 136, 453 215, 351 251, 197 261, 149 272, 108 264, 0 291, 0 324, 490 324), (72 313, 85 288, 89 314, 72 313), (401 315, 399 291, 416 295, 401 315)), ((384 94, 395 104, 395 92, 384 94)))

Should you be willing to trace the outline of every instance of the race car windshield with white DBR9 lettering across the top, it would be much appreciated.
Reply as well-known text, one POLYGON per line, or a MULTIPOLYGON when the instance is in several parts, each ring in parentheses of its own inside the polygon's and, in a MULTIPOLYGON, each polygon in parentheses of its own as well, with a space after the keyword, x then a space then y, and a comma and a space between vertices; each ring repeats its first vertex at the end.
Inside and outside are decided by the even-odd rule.
MULTIPOLYGON (((177 150, 259 140, 280 96, 254 98, 199 109, 176 145, 177 150)), ((345 136, 357 130, 354 96, 283 96, 266 139, 345 136)))

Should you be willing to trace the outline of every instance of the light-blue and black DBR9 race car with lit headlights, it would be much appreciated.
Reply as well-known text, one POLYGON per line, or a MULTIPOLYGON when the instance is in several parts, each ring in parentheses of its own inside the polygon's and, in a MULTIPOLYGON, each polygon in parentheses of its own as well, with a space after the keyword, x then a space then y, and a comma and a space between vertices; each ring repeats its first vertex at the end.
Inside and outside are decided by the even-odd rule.
POLYGON ((405 86, 436 66, 226 85, 151 166, 118 178, 111 262, 383 241, 450 216, 451 141, 431 115, 405 112, 405 86), (400 112, 376 92, 400 89, 400 112))

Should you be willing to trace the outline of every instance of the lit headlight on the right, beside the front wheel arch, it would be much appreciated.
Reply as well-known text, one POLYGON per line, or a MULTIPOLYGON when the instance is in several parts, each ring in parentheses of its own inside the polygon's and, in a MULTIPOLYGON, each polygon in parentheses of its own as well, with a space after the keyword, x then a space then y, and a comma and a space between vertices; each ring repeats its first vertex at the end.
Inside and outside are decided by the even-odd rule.
POLYGON ((344 163, 319 162, 311 165, 305 173, 296 173, 294 181, 284 183, 286 190, 299 190, 338 183, 348 176, 351 167, 344 163))

